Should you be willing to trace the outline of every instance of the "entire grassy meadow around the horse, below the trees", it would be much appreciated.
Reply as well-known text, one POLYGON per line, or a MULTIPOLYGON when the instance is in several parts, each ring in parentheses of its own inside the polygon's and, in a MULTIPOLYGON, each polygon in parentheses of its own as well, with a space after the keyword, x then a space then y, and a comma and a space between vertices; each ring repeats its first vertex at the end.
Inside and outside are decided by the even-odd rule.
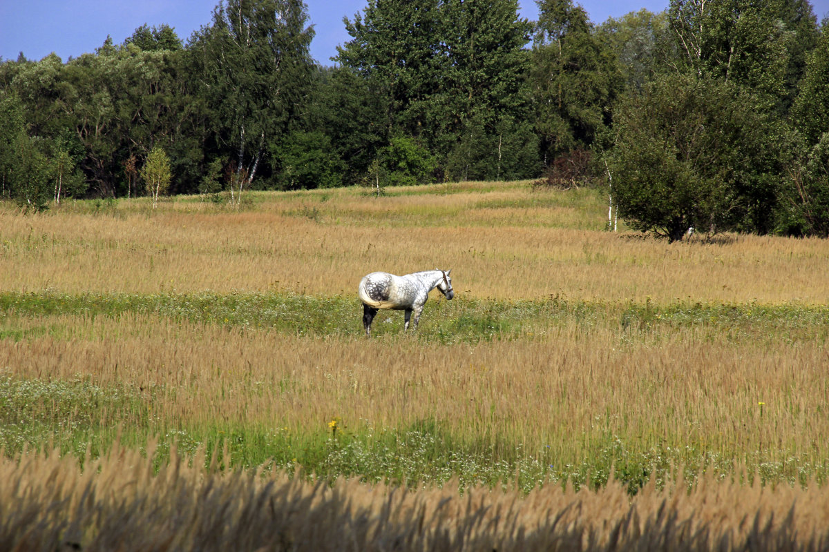
POLYGON ((267 520, 243 548, 342 544, 269 511, 352 550, 826 546, 829 245, 668 245, 606 231, 606 199, 0 205, 0 511, 31 514, 0 516, 0 547, 129 548, 114 520, 172 503, 182 530, 132 550, 219 550, 267 520), (455 299, 366 338, 361 276, 434 267, 455 299))

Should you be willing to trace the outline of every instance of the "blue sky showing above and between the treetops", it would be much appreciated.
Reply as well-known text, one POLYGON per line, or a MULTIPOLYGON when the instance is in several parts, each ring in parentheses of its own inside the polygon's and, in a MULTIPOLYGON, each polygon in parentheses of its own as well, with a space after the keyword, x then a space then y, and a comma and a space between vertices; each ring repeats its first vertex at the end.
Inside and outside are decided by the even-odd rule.
MULTIPOLYGON (((348 40, 342 17, 353 18, 366 0, 306 0, 316 36, 311 55, 323 64, 337 54, 337 45, 348 40)), ((17 60, 22 51, 30 60, 51 52, 62 60, 93 52, 107 35, 116 44, 143 24, 172 26, 183 41, 202 25, 211 22, 218 0, 2 0, 0 1, 0 56, 17 60)), ((582 0, 595 23, 620 17, 642 7, 659 12, 668 0, 582 0)), ((521 15, 536 19, 535 0, 519 0, 521 15)), ((818 20, 829 15, 829 0, 812 0, 818 20)))

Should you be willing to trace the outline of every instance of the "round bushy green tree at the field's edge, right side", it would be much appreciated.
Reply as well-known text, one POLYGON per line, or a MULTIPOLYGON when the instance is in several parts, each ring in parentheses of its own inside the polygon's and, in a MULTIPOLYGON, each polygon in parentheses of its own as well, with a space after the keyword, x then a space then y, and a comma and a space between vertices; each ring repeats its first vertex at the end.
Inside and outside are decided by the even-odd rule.
POLYGON ((619 106, 608 167, 619 214, 634 228, 679 240, 688 228, 750 220, 752 191, 773 157, 773 124, 725 80, 668 74, 619 106))

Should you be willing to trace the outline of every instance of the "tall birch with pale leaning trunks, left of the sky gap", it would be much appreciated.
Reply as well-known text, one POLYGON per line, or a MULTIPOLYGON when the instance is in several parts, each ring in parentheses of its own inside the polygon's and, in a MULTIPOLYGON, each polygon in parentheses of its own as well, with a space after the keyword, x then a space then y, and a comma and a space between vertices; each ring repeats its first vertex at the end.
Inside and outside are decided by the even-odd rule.
POLYGON ((313 69, 307 20, 301 0, 226 0, 191 45, 241 188, 253 183, 264 156, 279 150, 305 107, 313 69))

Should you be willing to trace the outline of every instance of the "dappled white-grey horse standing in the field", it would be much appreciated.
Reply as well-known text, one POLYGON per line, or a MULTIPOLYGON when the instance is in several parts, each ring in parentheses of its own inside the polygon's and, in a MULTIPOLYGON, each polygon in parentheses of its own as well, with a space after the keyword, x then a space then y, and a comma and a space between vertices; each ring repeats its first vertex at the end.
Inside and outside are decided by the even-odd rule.
POLYGON ((404 310, 405 324, 403 331, 409 329, 409 320, 414 313, 414 329, 423 312, 423 305, 429 299, 429 291, 438 288, 447 300, 452 300, 452 278, 448 271, 435 268, 434 271, 422 271, 395 276, 388 272, 371 272, 363 276, 357 294, 363 304, 363 327, 366 335, 371 336, 371 320, 380 309, 404 310))

